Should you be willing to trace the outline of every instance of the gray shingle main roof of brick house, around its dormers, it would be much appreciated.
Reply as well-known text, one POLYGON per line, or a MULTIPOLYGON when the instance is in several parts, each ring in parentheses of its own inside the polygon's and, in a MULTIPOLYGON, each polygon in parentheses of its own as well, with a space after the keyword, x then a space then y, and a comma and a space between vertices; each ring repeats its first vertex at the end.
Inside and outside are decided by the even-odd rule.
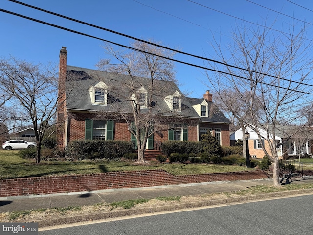
MULTIPOLYGON (((91 70, 86 68, 67 65, 67 109, 83 111, 105 111, 131 113, 132 108, 126 97, 131 97, 127 84, 130 77, 127 75, 109 73, 104 71, 91 70), (95 105, 91 103, 89 88, 103 81, 108 86, 108 105, 95 105)), ((137 78, 138 89, 149 85, 149 79, 137 78)), ((136 85, 136 84, 135 84, 136 85)), ((155 114, 183 116, 199 118, 188 99, 181 95, 181 112, 171 112, 163 97, 174 94, 175 91, 182 94, 174 82, 154 81, 152 102, 156 104, 153 108, 155 114)), ((142 109, 141 112, 146 112, 142 109)))

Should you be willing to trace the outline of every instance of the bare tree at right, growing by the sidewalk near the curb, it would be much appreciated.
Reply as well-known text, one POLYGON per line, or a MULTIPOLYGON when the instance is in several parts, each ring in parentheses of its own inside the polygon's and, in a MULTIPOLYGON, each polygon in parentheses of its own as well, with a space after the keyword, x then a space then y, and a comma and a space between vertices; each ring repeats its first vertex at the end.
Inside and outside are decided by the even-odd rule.
POLYGON ((261 143, 262 139, 266 141, 264 145, 268 147, 262 145, 262 148, 273 164, 274 186, 280 185, 278 147, 281 143, 275 140, 277 125, 297 122, 299 107, 308 102, 310 92, 305 84, 312 71, 311 45, 304 42, 303 29, 296 35, 293 33, 277 35, 268 27, 237 25, 233 43, 227 49, 216 42, 216 52, 226 64, 217 69, 224 73, 208 74, 218 94, 227 89, 235 90, 238 95, 248 94, 238 100, 250 116, 243 121, 257 133, 261 143))

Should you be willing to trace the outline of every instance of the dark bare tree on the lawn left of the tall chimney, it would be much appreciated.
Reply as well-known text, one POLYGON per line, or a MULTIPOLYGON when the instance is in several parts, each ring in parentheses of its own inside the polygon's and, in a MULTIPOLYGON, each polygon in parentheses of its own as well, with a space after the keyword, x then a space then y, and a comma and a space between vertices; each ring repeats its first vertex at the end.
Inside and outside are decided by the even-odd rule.
POLYGON ((41 143, 49 120, 54 117, 58 100, 57 73, 54 66, 33 65, 10 58, 0 61, 3 87, 12 94, 10 102, 27 113, 37 140, 36 163, 40 163, 41 143))

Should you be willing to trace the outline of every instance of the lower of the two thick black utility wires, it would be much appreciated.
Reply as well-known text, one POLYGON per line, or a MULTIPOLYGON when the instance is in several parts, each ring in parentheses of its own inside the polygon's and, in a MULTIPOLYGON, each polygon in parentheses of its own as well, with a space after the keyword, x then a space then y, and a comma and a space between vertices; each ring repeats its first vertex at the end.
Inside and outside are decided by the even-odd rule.
MULTIPOLYGON (((31 21, 35 21, 35 22, 38 22, 38 23, 41 23, 41 24, 46 24, 46 25, 49 25, 49 26, 52 26, 52 27, 55 27, 55 28, 59 28, 59 29, 62 29, 62 30, 68 31, 68 32, 72 32, 72 33, 76 33, 76 34, 79 34, 79 35, 82 35, 82 36, 86 36, 86 37, 98 39, 98 40, 101 40, 101 41, 104 41, 104 42, 108 42, 108 43, 114 44, 114 45, 119 46, 119 47, 125 47, 125 48, 131 49, 131 50, 135 50, 135 51, 138 51, 138 52, 142 52, 142 53, 158 56, 160 58, 168 59, 168 60, 171 60, 171 61, 174 61, 174 62, 178 62, 178 63, 181 63, 181 64, 197 67, 197 68, 204 69, 204 70, 209 70, 209 71, 223 73, 225 75, 238 77, 238 78, 241 78, 241 79, 244 79, 244 80, 248 80, 248 81, 253 81, 252 79, 249 79, 249 78, 246 78, 246 77, 242 77, 242 76, 238 76, 238 75, 235 75, 235 74, 231 74, 229 72, 218 71, 218 70, 206 68, 206 67, 203 67, 203 66, 187 63, 187 62, 176 60, 176 59, 173 59, 173 58, 168 58, 166 56, 157 55, 157 54, 150 53, 150 52, 143 51, 143 50, 139 50, 139 49, 136 49, 136 48, 133 48, 133 47, 129 47, 129 46, 125 46, 125 45, 122 45, 122 44, 118 44, 118 43, 115 43, 115 42, 112 42, 112 41, 108 41, 108 40, 103 39, 103 38, 99 38, 99 37, 95 37, 95 36, 92 36, 92 35, 89 35, 89 34, 86 34, 86 33, 78 32, 78 31, 75 31, 75 30, 72 30, 72 29, 68 29, 68 28, 56 25, 56 24, 50 24, 50 23, 47 23, 47 22, 44 22, 44 21, 41 21, 41 20, 37 20, 37 19, 31 18, 31 17, 28 17, 28 16, 24 16, 24 15, 15 13, 15 12, 7 11, 7 10, 1 9, 1 8, 0 8, 0 11, 8 13, 8 14, 11 14, 11 15, 19 16, 19 17, 22 17, 22 18, 25 18, 25 19, 28 19, 28 20, 31 20, 31 21)), ((313 95, 313 93, 308 93, 308 92, 304 92, 304 91, 297 91, 295 89, 285 88, 285 87, 281 87, 281 86, 276 86, 276 85, 269 84, 269 83, 266 83, 266 82, 261 82, 261 81, 257 81, 257 82, 259 82, 260 84, 267 85, 267 86, 272 86, 272 87, 276 87, 276 88, 285 89, 285 90, 288 90, 288 91, 293 91, 293 92, 298 92, 298 93, 302 93, 302 94, 311 94, 311 95, 313 95)))

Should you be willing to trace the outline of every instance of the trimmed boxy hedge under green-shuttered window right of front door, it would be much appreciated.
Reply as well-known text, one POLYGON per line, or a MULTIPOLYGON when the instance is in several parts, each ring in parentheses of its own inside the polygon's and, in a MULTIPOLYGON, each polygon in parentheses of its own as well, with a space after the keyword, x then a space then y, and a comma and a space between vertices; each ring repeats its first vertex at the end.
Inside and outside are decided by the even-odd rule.
POLYGON ((168 157, 171 153, 197 154, 202 151, 202 144, 198 141, 164 141, 161 146, 163 154, 168 157))

